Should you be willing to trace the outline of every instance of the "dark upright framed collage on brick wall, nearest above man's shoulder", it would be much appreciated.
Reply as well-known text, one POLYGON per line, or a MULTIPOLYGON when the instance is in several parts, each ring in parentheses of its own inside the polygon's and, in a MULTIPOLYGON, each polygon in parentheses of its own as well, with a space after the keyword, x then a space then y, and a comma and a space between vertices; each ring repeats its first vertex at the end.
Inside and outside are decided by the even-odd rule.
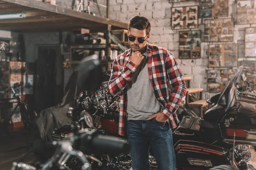
POLYGON ((201 58, 201 30, 179 32, 179 58, 201 58))

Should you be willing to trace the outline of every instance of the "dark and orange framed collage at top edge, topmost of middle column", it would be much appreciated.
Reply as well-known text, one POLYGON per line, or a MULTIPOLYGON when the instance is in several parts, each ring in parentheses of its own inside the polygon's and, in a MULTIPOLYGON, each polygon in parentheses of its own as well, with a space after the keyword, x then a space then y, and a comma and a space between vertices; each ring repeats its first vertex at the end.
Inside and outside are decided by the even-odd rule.
POLYGON ((228 0, 200 0, 200 17, 228 16, 228 0))

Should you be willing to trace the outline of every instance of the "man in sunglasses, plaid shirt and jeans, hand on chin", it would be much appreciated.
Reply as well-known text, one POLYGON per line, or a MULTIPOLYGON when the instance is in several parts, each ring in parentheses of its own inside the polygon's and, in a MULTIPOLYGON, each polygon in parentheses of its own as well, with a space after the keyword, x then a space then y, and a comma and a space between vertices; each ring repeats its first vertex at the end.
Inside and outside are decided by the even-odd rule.
POLYGON ((133 169, 149 170, 150 143, 158 170, 175 170, 171 128, 179 122, 175 112, 186 85, 174 56, 148 44, 150 28, 145 17, 131 18, 131 48, 114 60, 108 88, 113 96, 121 93, 119 135, 125 135, 126 127, 133 169))

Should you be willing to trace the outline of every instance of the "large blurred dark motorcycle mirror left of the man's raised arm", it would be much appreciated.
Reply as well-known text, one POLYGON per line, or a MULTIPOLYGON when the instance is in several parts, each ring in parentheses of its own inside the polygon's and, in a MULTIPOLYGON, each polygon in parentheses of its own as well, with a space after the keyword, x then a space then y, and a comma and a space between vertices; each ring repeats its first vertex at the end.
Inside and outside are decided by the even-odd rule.
POLYGON ((79 65, 77 85, 82 91, 94 92, 102 82, 102 68, 97 55, 85 57, 79 65))

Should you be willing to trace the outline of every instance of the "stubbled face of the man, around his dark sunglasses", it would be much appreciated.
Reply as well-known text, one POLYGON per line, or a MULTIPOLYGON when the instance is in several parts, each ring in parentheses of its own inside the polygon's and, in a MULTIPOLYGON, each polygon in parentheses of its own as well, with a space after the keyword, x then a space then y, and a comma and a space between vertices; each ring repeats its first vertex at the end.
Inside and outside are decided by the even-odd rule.
POLYGON ((139 43, 137 39, 134 42, 131 42, 130 40, 128 40, 129 45, 131 47, 131 51, 135 52, 135 51, 140 51, 146 45, 146 41, 148 41, 150 34, 148 34, 147 36, 145 29, 138 30, 136 28, 131 28, 130 30, 128 30, 127 36, 142 38, 143 40, 145 40, 143 43, 139 43))

